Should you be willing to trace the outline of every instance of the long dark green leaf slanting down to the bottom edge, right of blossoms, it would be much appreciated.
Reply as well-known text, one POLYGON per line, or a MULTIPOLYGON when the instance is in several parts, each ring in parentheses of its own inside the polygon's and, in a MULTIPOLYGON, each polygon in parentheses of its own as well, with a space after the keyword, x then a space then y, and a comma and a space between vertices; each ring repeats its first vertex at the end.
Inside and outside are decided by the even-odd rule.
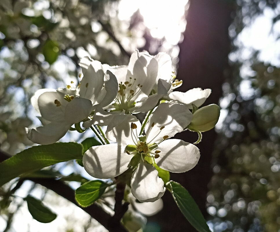
POLYGON ((179 183, 170 181, 172 196, 186 219, 199 232, 211 232, 197 204, 189 192, 179 183))

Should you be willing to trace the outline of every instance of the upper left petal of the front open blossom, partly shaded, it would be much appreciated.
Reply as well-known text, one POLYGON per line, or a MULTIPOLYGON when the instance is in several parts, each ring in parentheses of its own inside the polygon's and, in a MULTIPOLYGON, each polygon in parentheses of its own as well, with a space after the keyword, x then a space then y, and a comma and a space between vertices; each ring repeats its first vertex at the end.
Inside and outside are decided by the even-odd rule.
MULTIPOLYGON (((137 140, 138 140, 138 134, 140 132, 141 129, 141 123, 139 122, 139 120, 131 115, 131 114, 122 114, 120 116, 115 116, 116 117, 116 121, 119 123, 116 126, 112 126, 111 124, 108 125, 107 127, 107 131, 106 131, 106 137, 107 139, 111 140, 111 141, 116 141, 119 145, 122 146, 127 146, 129 144, 134 144, 133 143, 133 139, 134 141, 137 143, 136 138, 133 137, 133 139, 131 138, 131 123, 135 123, 137 128, 133 129, 133 133, 137 136, 137 140), (137 133, 136 133, 137 131, 137 133)), ((116 122, 114 122, 115 118, 112 120, 112 122, 114 124, 116 124, 116 122)))

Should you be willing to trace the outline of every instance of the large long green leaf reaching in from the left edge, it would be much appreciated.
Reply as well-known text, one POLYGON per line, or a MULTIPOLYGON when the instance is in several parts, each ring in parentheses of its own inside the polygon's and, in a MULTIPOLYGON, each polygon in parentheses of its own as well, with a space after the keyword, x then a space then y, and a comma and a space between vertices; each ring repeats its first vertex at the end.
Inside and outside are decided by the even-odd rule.
POLYGON ((30 173, 59 162, 82 157, 78 143, 54 143, 30 147, 0 163, 0 186, 24 173, 30 173))

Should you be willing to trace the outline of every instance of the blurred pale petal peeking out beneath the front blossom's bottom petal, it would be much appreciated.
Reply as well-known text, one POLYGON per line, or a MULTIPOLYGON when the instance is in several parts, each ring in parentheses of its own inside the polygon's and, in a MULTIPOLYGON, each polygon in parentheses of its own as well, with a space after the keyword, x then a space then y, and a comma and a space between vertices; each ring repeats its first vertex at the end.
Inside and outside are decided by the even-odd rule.
POLYGON ((158 213, 163 208, 163 201, 162 199, 158 199, 154 202, 134 202, 133 203, 137 211, 140 213, 146 215, 146 216, 152 216, 158 213))

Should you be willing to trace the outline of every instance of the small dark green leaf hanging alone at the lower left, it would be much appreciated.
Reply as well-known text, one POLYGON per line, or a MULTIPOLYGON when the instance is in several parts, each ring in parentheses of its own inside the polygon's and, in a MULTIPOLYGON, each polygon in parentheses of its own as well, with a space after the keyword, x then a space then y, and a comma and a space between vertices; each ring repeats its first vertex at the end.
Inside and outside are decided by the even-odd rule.
POLYGON ((32 217, 38 222, 48 223, 56 219, 56 214, 47 208, 40 200, 27 196, 24 200, 32 217))

